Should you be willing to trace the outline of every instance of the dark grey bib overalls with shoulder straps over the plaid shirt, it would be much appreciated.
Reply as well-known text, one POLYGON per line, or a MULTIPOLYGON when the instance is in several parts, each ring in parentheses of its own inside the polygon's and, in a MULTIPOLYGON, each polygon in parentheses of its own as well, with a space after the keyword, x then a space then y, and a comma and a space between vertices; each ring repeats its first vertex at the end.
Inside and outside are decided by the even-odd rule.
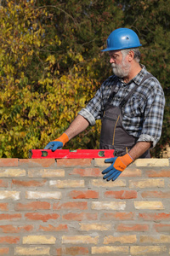
MULTIPOLYGON (((146 79, 152 75, 148 74, 142 79, 142 84, 146 79)), ((139 84, 139 85, 140 85, 139 84)), ((116 95, 115 86, 111 90, 111 95, 105 105, 105 113, 102 119, 101 135, 100 135, 100 149, 115 149, 114 156, 121 156, 133 148, 138 137, 129 135, 122 126, 122 107, 127 103, 127 100, 132 96, 133 91, 139 85, 135 85, 128 95, 122 100, 119 107, 111 105, 113 97, 116 95)), ((150 150, 147 150, 140 158, 150 158, 150 150)))

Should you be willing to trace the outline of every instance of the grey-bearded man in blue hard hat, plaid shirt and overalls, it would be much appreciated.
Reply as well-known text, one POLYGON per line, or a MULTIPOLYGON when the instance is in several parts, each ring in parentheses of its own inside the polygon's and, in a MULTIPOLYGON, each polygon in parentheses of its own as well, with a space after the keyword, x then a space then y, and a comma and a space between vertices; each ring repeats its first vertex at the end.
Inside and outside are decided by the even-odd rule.
POLYGON ((62 148, 65 143, 102 119, 100 148, 114 148, 111 166, 102 173, 114 181, 137 158, 149 158, 150 148, 161 137, 165 97, 161 84, 139 64, 139 38, 127 28, 118 28, 107 39, 114 75, 101 85, 61 137, 45 149, 62 148))

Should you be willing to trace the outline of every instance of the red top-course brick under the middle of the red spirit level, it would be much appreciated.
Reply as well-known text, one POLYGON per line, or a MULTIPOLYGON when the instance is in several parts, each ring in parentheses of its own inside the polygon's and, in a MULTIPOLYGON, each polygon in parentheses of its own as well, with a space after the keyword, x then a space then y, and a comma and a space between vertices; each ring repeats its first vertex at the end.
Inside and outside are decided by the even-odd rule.
POLYGON ((57 166, 91 166, 92 159, 60 159, 57 160, 57 166))

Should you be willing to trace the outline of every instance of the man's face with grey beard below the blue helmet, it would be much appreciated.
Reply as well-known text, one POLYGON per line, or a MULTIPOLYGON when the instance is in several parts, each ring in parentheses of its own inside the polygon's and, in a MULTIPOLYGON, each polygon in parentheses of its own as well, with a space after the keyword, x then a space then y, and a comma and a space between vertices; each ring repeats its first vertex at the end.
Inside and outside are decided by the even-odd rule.
POLYGON ((109 55, 113 73, 121 79, 127 77, 131 67, 127 55, 123 56, 120 50, 111 50, 109 55))

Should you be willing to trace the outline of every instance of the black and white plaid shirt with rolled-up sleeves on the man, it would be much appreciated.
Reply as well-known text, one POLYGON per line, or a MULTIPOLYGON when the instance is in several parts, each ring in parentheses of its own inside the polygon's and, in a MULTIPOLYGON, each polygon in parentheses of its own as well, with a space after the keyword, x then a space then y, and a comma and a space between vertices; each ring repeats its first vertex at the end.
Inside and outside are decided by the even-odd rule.
MULTIPOLYGON (((119 106, 122 99, 133 89, 135 84, 140 84, 148 72, 142 65, 140 73, 129 83, 124 84, 121 79, 116 83, 116 95, 111 104, 119 106)), ((101 119, 105 111, 105 104, 111 94, 111 88, 116 80, 113 75, 101 85, 94 98, 88 102, 86 108, 79 112, 90 125, 95 125, 96 119, 101 119)), ((124 129, 138 141, 152 142, 153 147, 161 137, 161 126, 165 106, 165 97, 161 84, 155 77, 146 79, 143 84, 133 92, 125 106, 122 108, 122 125, 124 129)))

